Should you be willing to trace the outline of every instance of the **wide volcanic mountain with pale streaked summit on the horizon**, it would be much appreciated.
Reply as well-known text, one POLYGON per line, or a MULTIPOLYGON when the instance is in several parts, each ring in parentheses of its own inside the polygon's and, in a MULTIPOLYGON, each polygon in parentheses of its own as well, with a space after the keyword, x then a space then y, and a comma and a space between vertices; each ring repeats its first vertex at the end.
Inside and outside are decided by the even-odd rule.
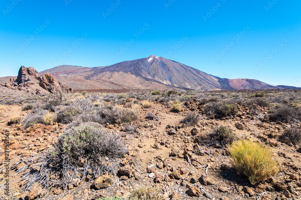
POLYGON ((40 72, 50 73, 73 89, 278 89, 255 79, 219 78, 200 70, 151 55, 104 67, 61 65, 40 72))

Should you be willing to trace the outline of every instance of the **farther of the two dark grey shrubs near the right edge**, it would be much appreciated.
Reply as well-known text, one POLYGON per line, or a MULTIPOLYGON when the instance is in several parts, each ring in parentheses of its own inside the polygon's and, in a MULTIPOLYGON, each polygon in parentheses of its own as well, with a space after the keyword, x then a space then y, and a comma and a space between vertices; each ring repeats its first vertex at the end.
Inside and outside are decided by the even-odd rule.
POLYGON ((294 108, 281 105, 273 109, 270 119, 289 123, 297 121, 297 115, 294 108))

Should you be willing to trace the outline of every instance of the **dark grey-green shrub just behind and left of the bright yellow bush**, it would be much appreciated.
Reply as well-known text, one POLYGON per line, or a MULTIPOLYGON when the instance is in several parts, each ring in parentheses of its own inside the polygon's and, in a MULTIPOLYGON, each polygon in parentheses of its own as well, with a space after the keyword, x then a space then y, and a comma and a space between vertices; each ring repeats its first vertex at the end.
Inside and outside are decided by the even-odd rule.
POLYGON ((228 127, 220 126, 215 127, 211 130, 209 134, 209 146, 226 146, 232 144, 232 142, 237 140, 236 134, 231 131, 228 127))

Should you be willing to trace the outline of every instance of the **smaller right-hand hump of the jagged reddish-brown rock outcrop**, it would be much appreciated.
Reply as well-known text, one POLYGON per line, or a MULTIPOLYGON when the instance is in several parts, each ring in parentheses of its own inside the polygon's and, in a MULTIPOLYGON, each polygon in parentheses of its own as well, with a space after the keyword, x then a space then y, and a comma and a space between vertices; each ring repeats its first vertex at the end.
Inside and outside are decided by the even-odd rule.
POLYGON ((60 88, 66 93, 72 93, 72 88, 68 88, 66 85, 58 82, 57 78, 55 78, 55 76, 51 75, 50 73, 43 74, 42 80, 40 81, 39 85, 50 93, 53 93, 56 88, 60 88))

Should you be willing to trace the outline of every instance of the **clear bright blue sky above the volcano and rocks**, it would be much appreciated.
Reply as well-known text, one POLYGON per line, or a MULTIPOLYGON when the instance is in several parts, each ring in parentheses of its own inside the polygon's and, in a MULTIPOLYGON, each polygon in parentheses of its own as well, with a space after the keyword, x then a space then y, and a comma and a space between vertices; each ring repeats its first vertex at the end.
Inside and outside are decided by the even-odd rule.
POLYGON ((2 0, 0 10, 0 76, 156 55, 222 78, 301 87, 299 0, 2 0))

